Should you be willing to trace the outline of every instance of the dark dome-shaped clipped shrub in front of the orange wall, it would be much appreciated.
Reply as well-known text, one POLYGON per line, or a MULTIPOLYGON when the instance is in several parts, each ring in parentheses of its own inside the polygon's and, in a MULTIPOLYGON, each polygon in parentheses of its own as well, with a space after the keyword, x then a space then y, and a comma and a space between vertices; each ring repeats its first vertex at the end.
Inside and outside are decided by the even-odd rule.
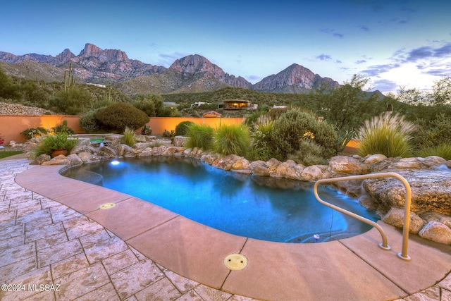
POLYGON ((150 120, 146 113, 124 102, 116 102, 100 109, 95 116, 100 121, 102 129, 118 130, 119 133, 122 133, 126 127, 137 130, 150 120))

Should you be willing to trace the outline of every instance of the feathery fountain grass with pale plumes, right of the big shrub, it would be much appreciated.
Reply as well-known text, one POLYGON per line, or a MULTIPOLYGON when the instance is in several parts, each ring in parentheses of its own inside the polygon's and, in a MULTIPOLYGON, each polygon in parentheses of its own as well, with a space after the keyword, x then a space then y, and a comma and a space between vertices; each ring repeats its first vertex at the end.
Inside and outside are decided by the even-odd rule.
POLYGON ((413 146, 410 143, 412 133, 416 130, 413 123, 395 114, 375 116, 365 121, 357 132, 359 140, 358 154, 384 154, 388 157, 412 156, 413 146))

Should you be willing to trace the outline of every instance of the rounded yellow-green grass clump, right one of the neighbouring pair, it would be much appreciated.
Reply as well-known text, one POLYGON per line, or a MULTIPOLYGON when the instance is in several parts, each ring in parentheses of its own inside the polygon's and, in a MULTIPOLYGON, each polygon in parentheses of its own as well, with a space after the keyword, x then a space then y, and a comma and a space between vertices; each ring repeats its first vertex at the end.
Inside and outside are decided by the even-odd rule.
POLYGON ((245 156, 250 146, 246 125, 222 125, 214 134, 213 149, 219 154, 245 156))

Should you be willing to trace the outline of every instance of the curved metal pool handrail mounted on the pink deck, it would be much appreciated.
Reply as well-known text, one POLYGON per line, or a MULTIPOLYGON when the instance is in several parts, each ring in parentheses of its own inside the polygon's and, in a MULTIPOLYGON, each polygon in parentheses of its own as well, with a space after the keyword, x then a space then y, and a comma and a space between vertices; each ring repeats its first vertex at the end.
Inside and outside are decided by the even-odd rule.
POLYGON ((319 195, 318 195, 318 186, 323 183, 334 183, 334 182, 340 182, 345 180, 364 180, 364 179, 370 179, 370 178, 397 178, 402 182, 404 187, 406 188, 406 197, 405 197, 405 204, 404 204, 404 223, 402 226, 402 252, 398 253, 397 256, 404 260, 410 260, 411 258, 409 255, 407 255, 407 245, 409 243, 409 227, 410 227, 410 203, 412 200, 412 190, 410 188, 409 182, 407 180, 400 176, 397 173, 371 173, 368 175, 359 175, 359 176, 347 176, 347 177, 340 177, 340 178, 330 178, 330 179, 322 179, 317 180, 314 185, 314 194, 318 202, 321 204, 330 207, 332 209, 335 209, 337 211, 340 211, 343 214, 347 214, 354 219, 358 219, 359 221, 362 221, 364 223, 368 223, 369 225, 373 226, 374 228, 378 229, 379 233, 381 233, 382 236, 382 242, 379 244, 379 247, 381 247, 383 250, 390 250, 391 247, 387 243, 387 235, 385 235, 385 232, 383 231, 383 228, 379 226, 374 221, 371 221, 369 219, 365 219, 363 216, 359 216, 358 214, 354 214, 350 211, 347 211, 345 209, 342 209, 341 207, 335 206, 333 204, 330 204, 328 202, 323 201, 319 195))

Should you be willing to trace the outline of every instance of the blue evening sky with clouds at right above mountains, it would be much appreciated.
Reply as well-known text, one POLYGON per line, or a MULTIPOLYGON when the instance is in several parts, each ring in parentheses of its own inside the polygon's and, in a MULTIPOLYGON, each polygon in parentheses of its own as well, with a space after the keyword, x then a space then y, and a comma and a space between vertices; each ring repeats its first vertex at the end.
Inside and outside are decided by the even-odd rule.
POLYGON ((169 67, 190 54, 256 83, 293 63, 369 90, 431 90, 451 76, 450 0, 12 1, 0 51, 80 54, 86 43, 169 67))

